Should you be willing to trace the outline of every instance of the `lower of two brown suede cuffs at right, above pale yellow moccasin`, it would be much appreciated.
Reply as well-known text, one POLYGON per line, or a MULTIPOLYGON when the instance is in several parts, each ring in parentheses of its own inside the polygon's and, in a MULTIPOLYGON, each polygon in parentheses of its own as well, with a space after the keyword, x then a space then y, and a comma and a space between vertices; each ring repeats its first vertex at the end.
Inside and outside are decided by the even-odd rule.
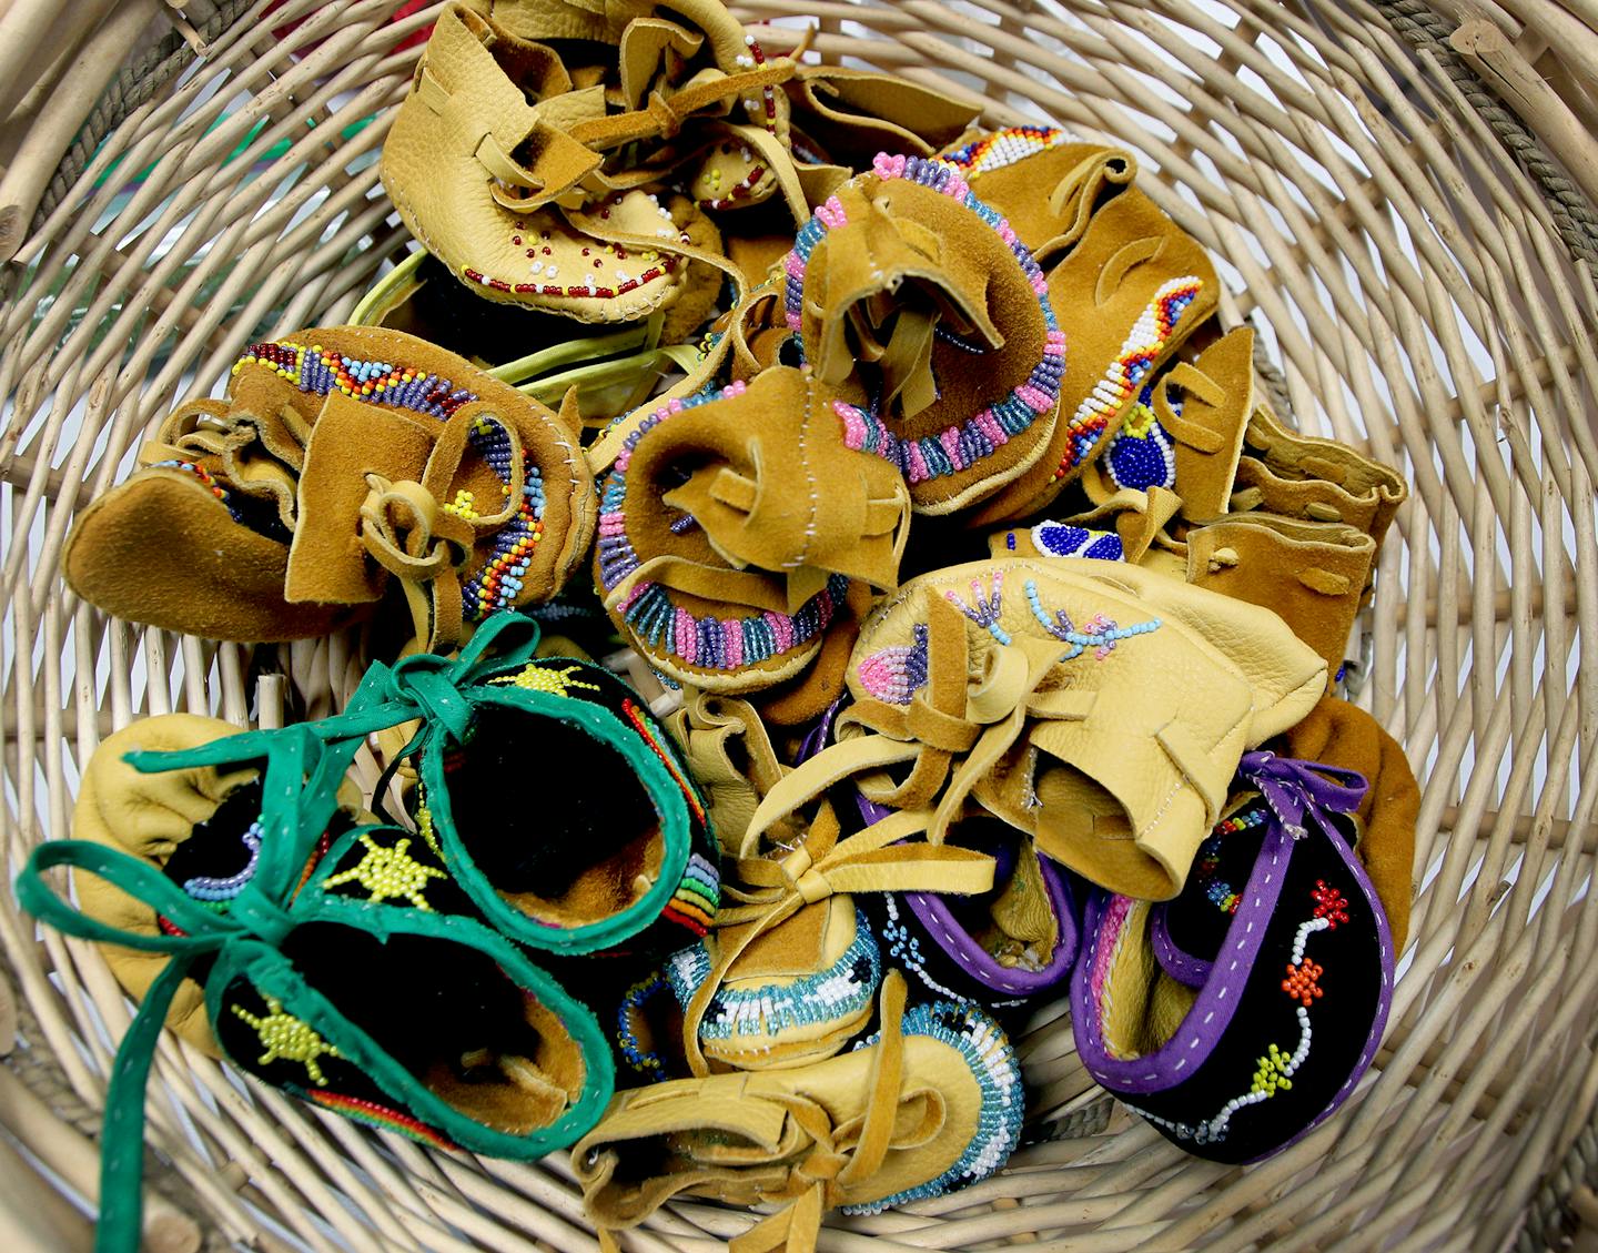
POLYGON ((1278 614, 1326 660, 1328 681, 1374 561, 1376 542, 1342 523, 1240 513, 1187 532, 1187 582, 1278 614))

